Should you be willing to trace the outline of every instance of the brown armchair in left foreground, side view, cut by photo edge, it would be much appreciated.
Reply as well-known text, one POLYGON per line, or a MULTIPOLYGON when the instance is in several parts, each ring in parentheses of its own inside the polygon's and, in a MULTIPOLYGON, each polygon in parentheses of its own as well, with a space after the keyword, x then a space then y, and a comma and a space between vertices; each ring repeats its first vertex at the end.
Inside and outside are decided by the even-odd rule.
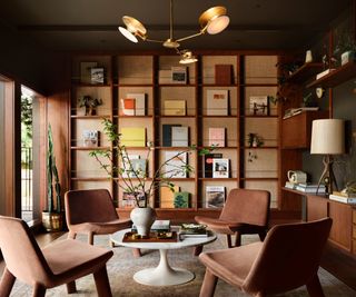
POLYGON ((110 297, 106 263, 113 253, 67 239, 42 250, 23 220, 0 217, 0 248, 6 268, 0 296, 9 296, 16 278, 33 286, 32 296, 44 296, 47 288, 67 284, 68 294, 76 291, 75 280, 93 274, 98 296, 110 297))

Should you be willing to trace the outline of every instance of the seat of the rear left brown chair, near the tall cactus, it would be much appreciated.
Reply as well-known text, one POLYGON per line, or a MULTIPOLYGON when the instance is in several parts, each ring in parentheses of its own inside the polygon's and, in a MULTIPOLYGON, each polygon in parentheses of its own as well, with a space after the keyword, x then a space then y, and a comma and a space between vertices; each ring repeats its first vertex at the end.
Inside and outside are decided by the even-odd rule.
POLYGON ((81 222, 70 226, 70 230, 75 232, 93 232, 93 234, 112 234, 120 229, 130 228, 132 225, 130 219, 115 219, 105 222, 81 222))

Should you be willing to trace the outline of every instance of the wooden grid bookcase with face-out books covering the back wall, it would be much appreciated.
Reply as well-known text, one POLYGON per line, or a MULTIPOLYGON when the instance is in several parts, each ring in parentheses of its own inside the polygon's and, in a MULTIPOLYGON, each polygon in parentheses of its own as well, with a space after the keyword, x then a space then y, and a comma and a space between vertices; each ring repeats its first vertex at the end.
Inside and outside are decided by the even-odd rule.
POLYGON ((132 158, 146 159, 150 149, 146 164, 148 181, 169 151, 185 149, 167 146, 164 141, 167 127, 188 127, 188 146, 196 145, 198 148, 209 146, 211 129, 224 129, 224 147, 214 152, 228 159, 228 176, 205 177, 204 158, 197 151, 189 152, 187 161, 195 171, 185 178, 172 179, 180 191, 190 194, 189 208, 167 208, 166 202, 161 204, 166 198, 160 197, 160 191, 157 191, 151 198, 151 205, 161 214, 178 211, 176 214, 180 214, 179 217, 185 217, 185 214, 219 211, 220 208, 207 208, 206 190, 211 186, 224 186, 226 196, 229 190, 238 187, 267 189, 271 192, 271 207, 278 207, 279 113, 277 106, 271 105, 267 98, 276 97, 278 57, 269 53, 245 56, 239 52, 209 52, 198 55, 198 58, 199 62, 188 66, 179 65, 177 55, 82 55, 72 58, 71 189, 108 188, 118 201, 118 210, 130 210, 125 205, 123 192, 117 184, 123 181, 118 178, 108 179, 98 162, 89 157, 92 148, 83 146, 83 130, 99 131, 99 149, 112 146, 103 135, 102 118, 107 118, 118 126, 119 132, 130 128, 145 129, 145 145, 128 146, 127 150, 132 158), (97 67, 105 69, 103 83, 82 81, 86 62, 89 66, 90 62, 96 62, 97 67), (220 66, 228 71, 218 73, 220 66), (222 80, 217 79, 220 75, 222 80), (144 111, 138 111, 137 106, 131 110, 132 107, 125 103, 130 103, 129 100, 122 101, 137 95, 145 97, 144 111), (86 116, 83 109, 78 108, 78 98, 82 96, 102 99, 96 115, 86 116), (215 97, 221 99, 220 108, 211 99, 215 97), (254 111, 251 98, 256 97, 259 97, 256 100, 267 100, 266 110, 254 111), (179 111, 182 108, 181 113, 179 111), (257 145, 250 141, 251 133, 258 137, 257 145), (151 148, 148 148, 148 142, 151 148))

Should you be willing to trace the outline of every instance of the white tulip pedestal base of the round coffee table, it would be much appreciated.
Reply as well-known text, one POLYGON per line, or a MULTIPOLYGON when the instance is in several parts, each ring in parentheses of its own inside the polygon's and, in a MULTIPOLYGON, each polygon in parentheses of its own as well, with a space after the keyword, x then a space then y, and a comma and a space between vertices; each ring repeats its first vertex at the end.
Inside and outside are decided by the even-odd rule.
POLYGON ((188 283, 195 275, 187 269, 172 268, 169 266, 167 249, 160 249, 160 260, 156 268, 147 268, 134 275, 134 279, 142 285, 171 286, 188 283))

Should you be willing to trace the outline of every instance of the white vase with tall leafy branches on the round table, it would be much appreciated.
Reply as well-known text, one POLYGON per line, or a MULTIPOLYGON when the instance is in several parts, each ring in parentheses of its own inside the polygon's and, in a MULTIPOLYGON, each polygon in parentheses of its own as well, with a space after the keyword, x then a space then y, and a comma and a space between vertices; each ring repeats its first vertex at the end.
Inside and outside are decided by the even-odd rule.
MULTIPOLYGON (((192 167, 185 162, 181 157, 185 154, 190 154, 197 148, 191 146, 189 148, 182 148, 179 152, 174 154, 174 156, 164 161, 152 174, 152 177, 149 178, 145 167, 145 169, 142 169, 142 167, 134 166, 126 146, 120 143, 121 135, 117 132, 117 126, 108 119, 103 119, 102 123, 103 132, 112 142, 112 148, 107 150, 92 150, 89 155, 96 158, 100 164, 100 167, 105 169, 111 178, 115 178, 118 187, 135 197, 136 207, 130 214, 131 220, 137 227, 139 235, 144 237, 148 236, 150 226, 156 218, 155 210, 149 206, 150 197, 152 197, 160 187, 169 187, 171 191, 175 191, 175 185, 171 182, 171 178, 180 176, 182 172, 187 174, 192 171, 192 167), (119 166, 115 160, 118 160, 119 166), (178 160, 178 164, 167 169, 167 165, 172 160, 178 160)), ((201 149, 199 150, 199 155, 206 155, 214 147, 201 149)), ((149 159, 151 151, 152 145, 148 143, 146 160, 149 159)))

